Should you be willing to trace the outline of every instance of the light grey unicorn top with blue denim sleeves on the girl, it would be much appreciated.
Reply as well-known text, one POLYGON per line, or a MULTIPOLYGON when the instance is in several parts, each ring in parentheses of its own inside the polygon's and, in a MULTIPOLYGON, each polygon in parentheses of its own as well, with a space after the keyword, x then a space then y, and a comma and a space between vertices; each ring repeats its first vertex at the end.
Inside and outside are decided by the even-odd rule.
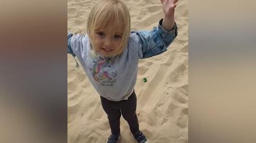
POLYGON ((111 101, 128 99, 135 87, 139 59, 150 58, 167 50, 177 36, 177 26, 167 32, 161 26, 152 31, 133 31, 127 47, 112 58, 93 56, 88 35, 67 35, 67 52, 77 56, 96 91, 111 101))

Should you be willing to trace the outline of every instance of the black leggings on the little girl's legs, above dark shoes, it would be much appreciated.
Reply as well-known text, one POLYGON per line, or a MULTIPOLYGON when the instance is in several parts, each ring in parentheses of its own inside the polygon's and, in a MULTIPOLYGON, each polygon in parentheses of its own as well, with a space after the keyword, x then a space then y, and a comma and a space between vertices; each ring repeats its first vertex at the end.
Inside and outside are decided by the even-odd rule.
POLYGON ((139 122, 136 115, 137 98, 135 91, 127 100, 114 102, 101 96, 101 105, 107 113, 112 134, 120 134, 120 117, 123 115, 128 122, 131 133, 139 131, 139 122))

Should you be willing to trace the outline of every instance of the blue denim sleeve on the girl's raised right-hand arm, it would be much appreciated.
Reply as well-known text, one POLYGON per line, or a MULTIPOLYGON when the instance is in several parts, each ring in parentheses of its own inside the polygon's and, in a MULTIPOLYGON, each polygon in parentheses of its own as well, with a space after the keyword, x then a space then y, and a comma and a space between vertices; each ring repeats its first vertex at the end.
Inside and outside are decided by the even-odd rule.
POLYGON ((154 27, 152 31, 137 31, 139 38, 139 58, 150 58, 151 56, 161 54, 167 50, 167 47, 177 37, 177 25, 175 23, 173 30, 166 31, 161 26, 163 19, 159 21, 159 26, 154 27))

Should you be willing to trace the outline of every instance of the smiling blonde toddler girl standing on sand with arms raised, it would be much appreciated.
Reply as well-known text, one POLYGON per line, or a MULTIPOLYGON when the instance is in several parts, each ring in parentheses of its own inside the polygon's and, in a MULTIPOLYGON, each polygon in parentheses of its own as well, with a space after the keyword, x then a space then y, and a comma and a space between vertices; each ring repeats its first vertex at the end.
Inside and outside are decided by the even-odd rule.
POLYGON ((177 36, 174 11, 178 0, 161 0, 164 18, 152 31, 131 32, 130 15, 121 0, 102 0, 91 10, 87 35, 68 33, 68 53, 77 56, 111 128, 108 143, 118 142, 121 115, 137 142, 149 142, 139 130, 134 91, 139 59, 167 50, 177 36))

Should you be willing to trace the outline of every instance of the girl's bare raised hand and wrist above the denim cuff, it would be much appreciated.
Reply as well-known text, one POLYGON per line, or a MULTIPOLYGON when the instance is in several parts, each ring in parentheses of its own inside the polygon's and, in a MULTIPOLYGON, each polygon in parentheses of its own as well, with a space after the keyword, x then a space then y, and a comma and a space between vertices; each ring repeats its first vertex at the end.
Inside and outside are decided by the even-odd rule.
POLYGON ((166 31, 170 31, 174 28, 175 19, 174 19, 174 11, 177 6, 178 0, 160 0, 162 3, 163 11, 164 11, 164 19, 162 23, 162 27, 166 31))

